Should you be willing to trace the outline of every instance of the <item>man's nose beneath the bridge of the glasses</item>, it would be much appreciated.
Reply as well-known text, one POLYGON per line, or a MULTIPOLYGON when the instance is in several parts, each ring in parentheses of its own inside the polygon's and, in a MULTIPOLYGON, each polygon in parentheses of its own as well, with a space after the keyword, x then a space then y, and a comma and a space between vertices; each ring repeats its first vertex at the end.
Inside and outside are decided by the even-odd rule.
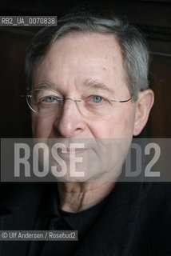
POLYGON ((72 98, 66 98, 61 115, 54 122, 54 129, 63 138, 71 138, 85 130, 85 120, 72 98))

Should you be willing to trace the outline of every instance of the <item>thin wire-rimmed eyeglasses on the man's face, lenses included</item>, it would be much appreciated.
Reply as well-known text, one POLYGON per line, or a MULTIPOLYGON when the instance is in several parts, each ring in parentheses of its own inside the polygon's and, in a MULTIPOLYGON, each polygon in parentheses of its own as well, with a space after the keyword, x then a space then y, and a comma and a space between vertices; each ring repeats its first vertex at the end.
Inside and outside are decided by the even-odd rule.
POLYGON ((132 97, 125 100, 116 100, 97 92, 86 92, 82 99, 65 98, 58 91, 38 88, 26 94, 26 102, 30 109, 37 114, 60 115, 66 100, 75 102, 78 110, 89 118, 106 117, 113 111, 113 102, 129 102, 132 97))

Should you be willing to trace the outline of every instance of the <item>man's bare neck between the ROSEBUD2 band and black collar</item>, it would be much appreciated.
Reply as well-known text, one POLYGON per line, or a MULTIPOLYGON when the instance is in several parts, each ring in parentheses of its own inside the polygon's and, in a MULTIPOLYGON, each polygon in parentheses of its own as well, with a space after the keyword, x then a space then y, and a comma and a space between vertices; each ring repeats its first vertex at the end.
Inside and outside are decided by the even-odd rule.
POLYGON ((58 182, 60 208, 70 213, 86 210, 105 198, 115 182, 58 182))

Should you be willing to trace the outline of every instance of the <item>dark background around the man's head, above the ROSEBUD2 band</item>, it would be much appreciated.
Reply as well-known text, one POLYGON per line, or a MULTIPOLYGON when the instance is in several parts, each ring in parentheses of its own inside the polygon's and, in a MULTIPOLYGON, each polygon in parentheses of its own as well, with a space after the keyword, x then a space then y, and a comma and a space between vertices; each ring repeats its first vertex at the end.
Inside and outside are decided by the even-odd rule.
MULTIPOLYGON (((165 1, 1 1, 1 15, 57 15, 76 7, 124 15, 144 34, 153 59, 150 86, 155 103, 144 134, 152 138, 171 136, 171 0, 165 1)), ((41 27, 0 27, 1 138, 31 137, 30 110, 26 99, 24 56, 26 46, 41 27)))

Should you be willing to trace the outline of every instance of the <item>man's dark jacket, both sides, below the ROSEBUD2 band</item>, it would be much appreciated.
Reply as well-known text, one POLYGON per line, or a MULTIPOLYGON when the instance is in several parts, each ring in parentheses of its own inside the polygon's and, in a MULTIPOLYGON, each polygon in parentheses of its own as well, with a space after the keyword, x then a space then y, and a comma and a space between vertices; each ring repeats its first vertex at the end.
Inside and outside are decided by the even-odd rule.
MULTIPOLYGON (((44 226, 35 223, 42 203, 47 203, 48 210, 46 198, 53 186, 56 185, 3 185, 1 230, 48 229, 46 219, 42 220, 44 226)), ((1 242, 0 248, 1 256, 34 256, 33 242, 1 242)), ((74 255, 171 256, 170 183, 117 182, 74 255)))

